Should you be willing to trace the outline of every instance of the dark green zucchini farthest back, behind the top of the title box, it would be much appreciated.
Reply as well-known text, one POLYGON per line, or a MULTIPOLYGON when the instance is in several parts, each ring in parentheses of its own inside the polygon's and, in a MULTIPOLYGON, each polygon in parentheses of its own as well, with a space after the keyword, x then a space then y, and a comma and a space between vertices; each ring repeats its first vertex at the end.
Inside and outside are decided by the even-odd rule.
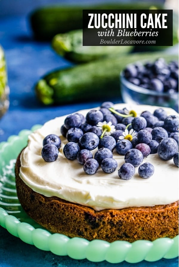
POLYGON ((38 40, 51 40, 58 33, 83 28, 83 9, 163 9, 163 5, 149 2, 101 3, 95 5, 46 6, 34 10, 30 14, 30 25, 34 37, 38 40))

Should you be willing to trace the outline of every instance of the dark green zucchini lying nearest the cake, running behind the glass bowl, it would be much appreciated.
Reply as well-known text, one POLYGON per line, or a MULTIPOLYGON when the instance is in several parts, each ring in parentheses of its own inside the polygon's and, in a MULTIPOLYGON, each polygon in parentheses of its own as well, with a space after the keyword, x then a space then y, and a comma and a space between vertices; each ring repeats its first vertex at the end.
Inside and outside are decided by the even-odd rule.
POLYGON ((38 99, 45 105, 80 101, 118 99, 121 96, 119 75, 132 62, 155 60, 163 57, 170 61, 178 56, 166 53, 133 53, 114 56, 67 69, 48 73, 35 86, 38 99))

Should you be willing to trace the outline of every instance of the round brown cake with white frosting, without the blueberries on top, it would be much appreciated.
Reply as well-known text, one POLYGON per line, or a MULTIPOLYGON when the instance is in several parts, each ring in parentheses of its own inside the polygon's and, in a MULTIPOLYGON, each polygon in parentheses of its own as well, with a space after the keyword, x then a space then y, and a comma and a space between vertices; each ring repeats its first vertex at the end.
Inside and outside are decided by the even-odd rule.
MULTIPOLYGON (((110 110, 112 113, 113 110, 125 111, 124 114, 126 110, 132 110, 135 111, 136 117, 141 117, 144 111, 153 114, 156 109, 159 107, 116 104, 110 110)), ((100 107, 93 110, 102 111, 100 107)), ((167 116, 178 116, 178 113, 170 108, 163 110, 167 116)), ((87 119, 89 111, 82 110, 77 114, 87 119)), ((119 117, 118 114, 115 116, 117 124, 124 124, 124 121, 119 122, 119 117)), ((56 117, 30 134, 27 147, 17 158, 17 194, 27 214, 52 233, 83 237, 87 240, 133 242, 175 237, 178 234, 178 167, 174 164, 173 156, 166 160, 161 159, 159 153, 151 152, 143 156, 140 165, 134 167, 135 173, 132 177, 125 179, 119 175, 119 170, 126 163, 126 156, 119 154, 117 148, 113 148, 112 158, 117 162, 117 168, 106 173, 100 162, 97 171, 89 175, 77 158, 72 160, 65 156, 64 147, 70 143, 61 133, 66 118, 67 116, 56 117), (45 137, 51 134, 60 137, 61 146, 58 148, 58 157, 47 162, 42 157, 42 148, 45 137), (139 175, 139 168, 143 163, 150 163, 154 167, 154 173, 149 178, 139 175)), ((101 122, 104 122, 104 118, 107 117, 104 115, 101 122)), ((156 120, 161 123, 161 119, 156 120)), ((100 123, 97 125, 100 128, 100 123)), ((130 124, 127 127, 130 127, 130 124)), ((146 125, 145 128, 151 132, 151 128, 156 127, 159 126, 146 125)), ((81 126, 79 128, 82 129, 81 126)), ((117 131, 116 124, 114 128, 112 125, 112 132, 117 131)), ((175 129, 175 132, 177 131, 178 128, 175 129)), ((136 130, 136 136, 138 132, 136 130)), ((123 137, 120 136, 116 140, 116 144, 126 136, 126 130, 124 133, 121 134, 123 137)), ((129 133, 131 132, 128 131, 129 133)), ((174 138, 173 135, 170 136, 168 131, 167 137, 163 139, 174 138)), ((99 137, 100 139, 102 138, 99 137)), ((80 138, 76 145, 83 149, 80 146, 80 138)), ((93 158, 99 150, 98 146, 90 151, 93 158)))

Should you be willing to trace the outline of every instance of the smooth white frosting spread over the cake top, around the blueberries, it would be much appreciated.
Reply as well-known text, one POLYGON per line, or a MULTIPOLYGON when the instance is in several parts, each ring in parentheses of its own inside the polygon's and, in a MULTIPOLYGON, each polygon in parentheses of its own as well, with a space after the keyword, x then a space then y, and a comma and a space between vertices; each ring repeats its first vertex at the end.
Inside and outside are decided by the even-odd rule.
MULTIPOLYGON (((142 111, 153 112, 157 108, 146 105, 115 105, 116 109, 124 107, 135 110, 138 115, 142 111)), ((86 115, 88 111, 79 112, 86 115)), ((178 114, 170 108, 166 108, 166 111, 168 115, 178 114)), ((119 179, 118 169, 124 163, 124 156, 115 151, 113 157, 118 162, 115 172, 105 174, 99 168, 94 175, 85 174, 83 165, 77 160, 66 159, 63 154, 67 140, 61 136, 60 128, 66 116, 52 119, 30 134, 28 145, 21 154, 20 168, 20 177, 30 188, 47 197, 60 197, 95 210, 162 205, 178 200, 178 167, 173 160, 161 160, 158 154, 151 154, 143 160, 151 162, 155 167, 154 174, 148 179, 139 177, 138 168, 135 168, 135 175, 130 180, 119 179), (50 163, 41 157, 43 139, 48 134, 57 134, 62 141, 58 159, 50 163)))

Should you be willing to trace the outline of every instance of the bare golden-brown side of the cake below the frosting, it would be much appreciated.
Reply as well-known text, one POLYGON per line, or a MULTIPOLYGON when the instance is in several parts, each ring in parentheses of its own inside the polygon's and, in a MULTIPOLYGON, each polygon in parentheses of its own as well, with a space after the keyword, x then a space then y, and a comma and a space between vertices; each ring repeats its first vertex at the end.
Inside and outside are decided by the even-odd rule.
POLYGON ((33 220, 52 233, 108 242, 153 241, 161 237, 173 238, 178 234, 178 201, 152 207, 95 211, 84 205, 58 197, 45 197, 33 191, 20 178, 20 167, 19 154, 15 177, 21 206, 33 220))

